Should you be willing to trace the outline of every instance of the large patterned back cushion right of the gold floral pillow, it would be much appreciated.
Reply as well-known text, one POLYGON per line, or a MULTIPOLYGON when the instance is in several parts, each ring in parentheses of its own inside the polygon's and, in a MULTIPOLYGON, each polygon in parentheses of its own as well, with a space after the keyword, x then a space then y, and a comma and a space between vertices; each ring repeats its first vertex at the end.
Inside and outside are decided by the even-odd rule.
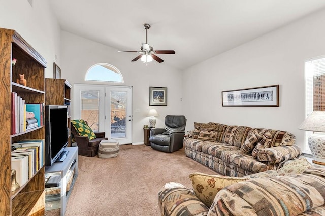
POLYGON ((208 215, 299 215, 324 202, 325 179, 317 175, 257 178, 221 190, 208 215))

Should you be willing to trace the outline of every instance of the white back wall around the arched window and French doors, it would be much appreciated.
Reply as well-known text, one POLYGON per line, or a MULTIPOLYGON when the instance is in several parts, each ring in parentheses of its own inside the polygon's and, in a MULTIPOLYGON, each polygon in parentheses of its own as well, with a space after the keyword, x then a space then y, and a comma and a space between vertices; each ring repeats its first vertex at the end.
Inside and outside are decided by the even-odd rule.
MULTIPOLYGON (((105 46, 75 34, 61 32, 61 78, 74 83, 114 83, 84 81, 87 70, 97 63, 109 63, 117 67, 124 78, 124 86, 133 86, 133 143, 143 143, 143 125, 149 125, 147 113, 150 107, 157 110, 156 127, 164 127, 166 115, 181 115, 182 74, 164 63, 151 62, 146 66, 140 60, 131 62, 136 55, 117 53, 117 49, 105 46), (149 87, 167 87, 168 106, 149 106, 149 87), (140 110, 140 112, 135 112, 140 110)), ((72 89, 73 90, 73 89, 72 89)), ((73 95, 72 95, 73 96, 73 95)), ((74 99, 72 98, 72 103, 74 99)), ((72 106, 73 107, 73 104, 72 106)), ((73 116, 72 110, 72 119, 73 116)), ((79 117, 76 117, 79 118, 79 117)))

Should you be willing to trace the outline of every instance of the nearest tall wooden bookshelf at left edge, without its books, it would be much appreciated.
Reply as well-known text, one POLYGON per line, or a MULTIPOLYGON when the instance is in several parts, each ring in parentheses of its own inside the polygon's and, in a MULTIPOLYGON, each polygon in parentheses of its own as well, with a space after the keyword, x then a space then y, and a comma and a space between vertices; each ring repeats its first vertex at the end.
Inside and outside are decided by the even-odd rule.
POLYGON ((44 166, 11 192, 11 144, 21 139, 45 139, 44 126, 11 135, 11 92, 26 103, 44 103, 46 61, 15 30, 0 28, 0 42, 0 215, 44 215, 44 166), (17 59, 14 66, 13 58, 17 59), (26 86, 16 83, 19 74, 24 74, 26 86))

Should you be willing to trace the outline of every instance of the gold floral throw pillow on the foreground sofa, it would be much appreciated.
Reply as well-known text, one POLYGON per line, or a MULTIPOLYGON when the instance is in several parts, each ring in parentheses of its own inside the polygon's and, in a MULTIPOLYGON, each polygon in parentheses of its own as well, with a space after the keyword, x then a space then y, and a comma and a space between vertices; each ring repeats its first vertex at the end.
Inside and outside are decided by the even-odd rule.
POLYGON ((191 173, 188 177, 192 181, 195 195, 208 207, 211 206, 214 197, 221 189, 231 184, 249 179, 221 175, 207 175, 199 172, 191 173))

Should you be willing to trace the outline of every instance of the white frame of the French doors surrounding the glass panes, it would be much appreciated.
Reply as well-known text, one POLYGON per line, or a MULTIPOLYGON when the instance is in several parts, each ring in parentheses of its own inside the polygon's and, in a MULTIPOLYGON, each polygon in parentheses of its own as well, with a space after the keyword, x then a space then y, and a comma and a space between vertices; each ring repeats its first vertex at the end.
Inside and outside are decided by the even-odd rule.
POLYGON ((81 118, 81 91, 98 91, 99 92, 99 122, 98 122, 98 129, 99 132, 105 131, 106 137, 110 139, 110 106, 108 105, 110 103, 109 100, 109 95, 105 97, 105 93, 109 91, 108 89, 127 89, 128 92, 128 103, 129 106, 127 107, 127 118, 126 121, 129 122, 128 127, 126 128, 126 138, 124 139, 116 139, 119 141, 120 144, 127 144, 127 143, 132 143, 132 127, 133 127, 133 122, 132 122, 132 86, 115 86, 115 85, 94 85, 94 84, 79 84, 75 83, 74 84, 74 101, 73 101, 73 118, 74 119, 80 119, 81 118), (108 107, 107 107, 108 106, 108 107), (131 121, 128 121, 128 115, 131 115, 131 121))

